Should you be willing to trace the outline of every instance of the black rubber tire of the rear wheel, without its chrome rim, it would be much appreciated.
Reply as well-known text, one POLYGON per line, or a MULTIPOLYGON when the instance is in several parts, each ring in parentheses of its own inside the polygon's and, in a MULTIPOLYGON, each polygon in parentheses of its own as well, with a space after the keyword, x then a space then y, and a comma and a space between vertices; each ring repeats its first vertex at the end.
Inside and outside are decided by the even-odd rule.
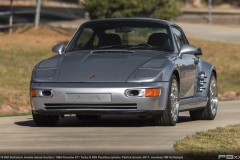
MULTIPOLYGON (((217 115, 217 103, 218 103, 218 100, 215 99, 215 101, 213 103, 213 105, 216 105, 216 112, 212 112, 212 109, 211 109, 211 106, 212 106, 212 97, 211 97, 211 84, 212 84, 212 79, 215 79, 215 82, 217 84, 217 80, 216 80, 216 76, 214 73, 211 74, 211 79, 210 79, 210 83, 209 83, 209 86, 208 86, 208 103, 207 105, 204 107, 204 108, 201 108, 201 109, 198 109, 198 110, 193 110, 193 111, 189 111, 190 113, 190 117, 192 120, 213 120, 216 115, 217 115), (215 113, 215 114, 214 114, 215 113)), ((216 93, 214 93, 214 98, 216 97, 217 98, 217 85, 216 85, 216 93)))

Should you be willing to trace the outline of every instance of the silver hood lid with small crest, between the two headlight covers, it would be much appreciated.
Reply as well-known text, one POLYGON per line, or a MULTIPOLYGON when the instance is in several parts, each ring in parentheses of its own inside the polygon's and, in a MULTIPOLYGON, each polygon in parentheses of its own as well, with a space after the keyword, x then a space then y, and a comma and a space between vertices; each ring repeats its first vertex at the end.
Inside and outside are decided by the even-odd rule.
POLYGON ((58 81, 126 82, 142 64, 162 54, 159 51, 68 53, 62 60, 58 81))

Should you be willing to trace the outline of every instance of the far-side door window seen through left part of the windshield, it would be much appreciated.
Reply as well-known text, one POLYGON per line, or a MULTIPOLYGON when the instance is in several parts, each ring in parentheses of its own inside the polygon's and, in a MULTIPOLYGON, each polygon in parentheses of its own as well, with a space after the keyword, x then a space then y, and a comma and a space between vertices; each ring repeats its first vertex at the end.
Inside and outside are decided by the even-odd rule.
POLYGON ((78 50, 85 48, 88 41, 90 40, 91 36, 93 34, 93 30, 90 28, 84 28, 82 31, 80 37, 78 38, 77 43, 74 45, 73 50, 78 50))

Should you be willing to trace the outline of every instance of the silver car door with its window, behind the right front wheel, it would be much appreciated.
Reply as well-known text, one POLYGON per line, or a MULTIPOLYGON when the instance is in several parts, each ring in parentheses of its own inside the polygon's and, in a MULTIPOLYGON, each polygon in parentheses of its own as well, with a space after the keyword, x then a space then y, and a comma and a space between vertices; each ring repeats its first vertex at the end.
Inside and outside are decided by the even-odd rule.
MULTIPOLYGON (((183 32, 177 28, 172 28, 174 39, 176 41, 178 51, 183 44, 188 44, 183 32)), ((196 76, 195 55, 183 54, 178 58, 177 63, 180 70, 180 98, 191 97, 194 94, 194 83, 196 76)))

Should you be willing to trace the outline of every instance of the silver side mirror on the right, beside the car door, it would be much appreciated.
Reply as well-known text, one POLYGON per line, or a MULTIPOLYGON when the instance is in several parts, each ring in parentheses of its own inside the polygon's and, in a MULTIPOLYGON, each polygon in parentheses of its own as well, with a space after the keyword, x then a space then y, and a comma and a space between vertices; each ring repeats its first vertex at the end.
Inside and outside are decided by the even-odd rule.
POLYGON ((182 57, 183 54, 202 55, 202 50, 201 48, 197 49, 190 44, 183 44, 180 48, 179 57, 182 57))

